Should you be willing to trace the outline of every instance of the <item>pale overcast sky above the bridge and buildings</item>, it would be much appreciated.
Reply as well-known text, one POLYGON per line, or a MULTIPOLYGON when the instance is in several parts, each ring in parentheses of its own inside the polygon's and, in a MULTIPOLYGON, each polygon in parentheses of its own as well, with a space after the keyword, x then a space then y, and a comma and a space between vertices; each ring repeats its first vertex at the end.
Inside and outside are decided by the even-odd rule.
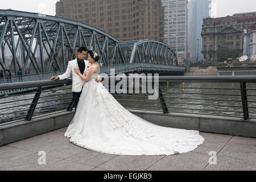
MULTIPOLYGON (((217 16, 233 15, 256 11, 256 0, 212 0, 213 13, 217 16)), ((0 9, 12 9, 55 15, 55 3, 57 0, 1 0, 0 9)))

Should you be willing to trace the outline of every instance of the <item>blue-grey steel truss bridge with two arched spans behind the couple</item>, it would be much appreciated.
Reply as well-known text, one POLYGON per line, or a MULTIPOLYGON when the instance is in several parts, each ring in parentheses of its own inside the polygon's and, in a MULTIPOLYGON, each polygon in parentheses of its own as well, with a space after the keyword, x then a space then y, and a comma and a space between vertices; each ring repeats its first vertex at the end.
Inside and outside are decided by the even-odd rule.
POLYGON ((155 40, 119 42, 88 24, 23 11, 0 10, 0 69, 23 75, 65 71, 77 48, 85 46, 100 54, 101 72, 138 70, 185 72, 177 67, 177 55, 155 40))

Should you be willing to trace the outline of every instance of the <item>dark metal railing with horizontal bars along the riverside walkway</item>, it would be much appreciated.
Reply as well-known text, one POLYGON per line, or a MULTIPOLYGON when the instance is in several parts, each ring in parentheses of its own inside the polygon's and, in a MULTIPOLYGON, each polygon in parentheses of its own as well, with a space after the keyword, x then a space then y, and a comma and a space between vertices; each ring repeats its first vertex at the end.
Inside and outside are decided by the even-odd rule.
MULTIPOLYGON (((126 109, 247 120, 256 118, 256 86, 251 84, 255 82, 256 76, 160 76, 158 100, 148 100, 148 93, 112 95, 126 109), (202 87, 201 83, 206 85, 202 87)), ((31 120, 55 111, 72 111, 71 84, 71 78, 0 84, 0 91, 23 89, 23 92, 0 97, 0 124, 31 120)))

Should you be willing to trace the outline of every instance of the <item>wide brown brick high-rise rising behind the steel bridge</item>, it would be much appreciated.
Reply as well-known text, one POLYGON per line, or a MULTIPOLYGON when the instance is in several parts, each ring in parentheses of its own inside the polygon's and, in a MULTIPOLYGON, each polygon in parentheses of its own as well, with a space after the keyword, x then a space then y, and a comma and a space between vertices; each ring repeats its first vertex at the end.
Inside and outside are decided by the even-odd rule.
POLYGON ((120 41, 164 41, 161 0, 60 0, 56 16, 97 27, 120 41))

